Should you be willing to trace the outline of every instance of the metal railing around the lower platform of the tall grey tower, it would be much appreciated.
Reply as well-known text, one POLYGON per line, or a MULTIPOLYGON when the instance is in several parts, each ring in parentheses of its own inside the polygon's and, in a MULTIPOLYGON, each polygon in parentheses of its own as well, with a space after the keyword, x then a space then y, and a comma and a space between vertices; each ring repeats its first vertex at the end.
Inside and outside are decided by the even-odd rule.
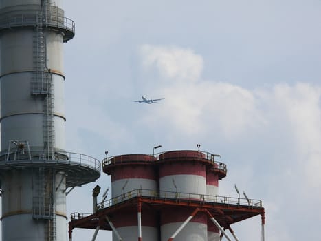
POLYGON ((6 156, 1 163, 57 163, 67 165, 79 165, 82 167, 90 167, 100 173, 100 161, 91 156, 74 153, 74 152, 54 152, 53 156, 47 156, 45 151, 27 151, 20 153, 19 150, 2 154, 6 156))

